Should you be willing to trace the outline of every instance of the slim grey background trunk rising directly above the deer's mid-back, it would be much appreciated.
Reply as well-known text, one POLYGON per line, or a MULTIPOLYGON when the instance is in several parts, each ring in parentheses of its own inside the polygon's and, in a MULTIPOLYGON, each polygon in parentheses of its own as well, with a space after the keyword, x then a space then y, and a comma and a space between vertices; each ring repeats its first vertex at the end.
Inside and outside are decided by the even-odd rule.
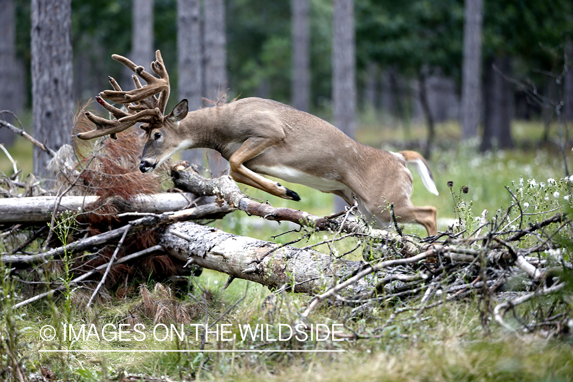
POLYGON ((308 111, 311 96, 311 58, 308 27, 308 0, 291 0, 292 78, 293 107, 308 111))

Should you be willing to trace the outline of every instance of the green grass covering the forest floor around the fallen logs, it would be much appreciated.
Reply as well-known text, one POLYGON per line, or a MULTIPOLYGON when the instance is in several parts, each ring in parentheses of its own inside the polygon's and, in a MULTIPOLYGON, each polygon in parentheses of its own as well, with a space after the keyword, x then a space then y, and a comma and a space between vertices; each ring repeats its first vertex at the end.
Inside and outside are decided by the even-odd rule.
MULTIPOLYGON (((376 147, 384 141, 403 140, 424 135, 418 125, 409 127, 397 125, 395 121, 382 119, 383 128, 374 129, 375 120, 365 119, 359 129, 359 139, 376 147)), ((378 124, 379 125, 379 124, 378 124)), ((376 125, 376 126, 378 126, 376 125)), ((535 140, 542 131, 539 123, 516 122, 514 124, 517 141, 535 140)), ((436 149, 430 161, 439 196, 431 195, 414 174, 413 202, 417 205, 431 204, 438 208, 438 218, 444 230, 457 217, 454 208, 457 198, 466 206, 471 205, 473 215, 478 216, 486 209, 489 216, 499 208, 507 208, 513 192, 521 190, 523 202, 538 205, 539 209, 563 204, 563 192, 555 196, 548 179, 564 176, 563 162, 558 153, 549 149, 529 149, 527 151, 498 151, 486 154, 477 152, 475 145, 460 146, 456 141, 456 124, 439 125, 438 133, 442 148, 436 149), (451 142, 450 147, 447 144, 451 142), (520 184, 523 178, 523 184, 520 184), (535 179, 535 186, 531 186, 535 179), (453 180, 450 192, 446 183, 453 180), (540 183, 544 183, 541 187, 540 183), (468 186, 468 194, 460 194, 462 186, 468 186), (547 200, 545 199, 547 198, 547 200), (455 200, 454 200, 455 199, 455 200), (544 204, 545 203, 545 204, 544 204)), ((385 147, 386 148, 386 147, 385 147)), ((387 147, 393 149, 392 147, 387 147)), ((32 146, 18 137, 14 147, 9 148, 18 167, 23 172, 32 170, 32 146)), ((6 163, 0 153, 0 170, 11 174, 11 164, 6 163)), ((570 159, 570 157, 569 157, 570 159)), ((571 163, 570 163, 571 166, 571 163)), ((291 207, 311 212, 315 215, 328 215, 332 210, 332 195, 323 194, 299 185, 289 185, 301 195, 301 202, 275 198, 253 188, 245 188, 246 193, 262 202, 266 200, 276 207, 291 207)), ((462 211, 464 214, 469 210, 462 211)), ((535 216, 534 216, 535 217, 535 216)), ((273 235, 288 230, 286 225, 265 222, 261 218, 246 216, 237 211, 214 225, 233 233, 252 236, 280 243, 300 237, 300 233, 290 233, 273 238, 273 235)), ((421 229, 408 226, 409 233, 422 235, 421 229)), ((313 235, 309 241, 295 245, 304 246, 309 242, 323 240, 324 233, 313 235)), ((337 246, 339 252, 351 249, 354 241, 346 241, 337 246)), ((0 244, 0 251, 5 249, 0 244)), ((325 245, 317 248, 327 252, 325 245)), ((359 258, 360 250, 351 258, 359 258)), ((233 334, 239 335, 238 325, 269 324, 272 334, 276 334, 278 324, 294 324, 299 313, 308 306, 309 296, 286 293, 276 300, 266 301, 271 295, 266 288, 243 280, 235 280, 229 289, 221 292, 226 275, 205 270, 196 281, 195 294, 201 300, 206 290, 210 300, 205 302, 207 317, 213 323, 222 317, 220 323, 231 324, 233 334), (242 300, 241 300, 242 299, 242 300), (241 301, 240 301, 241 300, 241 301), (234 306, 234 304, 237 304, 234 306)), ((152 285, 151 285, 152 286, 152 285)), ((343 349, 344 353, 74 353, 69 355, 41 353, 42 349, 107 349, 107 350, 146 350, 146 349, 198 349, 194 338, 184 341, 156 341, 152 339, 151 327, 154 317, 138 316, 146 325, 145 341, 43 341, 40 328, 44 325, 61 325, 65 321, 65 304, 62 296, 54 300, 43 300, 29 305, 11 316, 10 301, 21 300, 26 285, 14 285, 3 277, 3 296, 11 296, 0 302, 3 317, 0 330, 17 325, 22 330, 18 337, 18 351, 28 370, 45 367, 56 373, 58 380, 100 381, 106 376, 114 376, 118 369, 146 375, 169 375, 172 379, 213 380, 213 381, 292 381, 308 379, 316 381, 569 381, 573 379, 573 341, 571 334, 562 338, 541 338, 535 334, 517 339, 492 323, 490 332, 484 333, 480 322, 480 310, 472 298, 452 302, 427 310, 419 320, 395 321, 382 328, 393 312, 392 308, 380 306, 348 321, 348 325, 367 338, 358 341, 305 342, 296 341, 216 341, 205 344, 206 349, 343 349), (11 321, 9 321, 11 320, 11 321), (6 322, 11 322, 7 325, 6 322), (369 336, 369 337, 368 337, 369 336)), ((74 290, 70 317, 74 324, 127 322, 127 317, 137 311, 139 298, 127 301, 108 300, 100 302, 93 310, 85 310, 89 292, 74 290), (87 294, 87 297, 86 297, 87 294)), ((195 300, 187 298, 186 304, 195 300)), ((203 306, 203 305, 202 305, 203 306)), ((520 306, 518 313, 529 309, 520 306)), ((533 308, 532 308, 533 309, 533 308)), ((350 308, 321 305, 310 317, 313 323, 339 323, 350 313, 350 308)), ((201 310, 194 322, 203 322, 206 311, 201 310)), ((508 313, 509 316, 509 313, 508 313)), ((191 333, 191 330, 189 330, 191 333)), ((5 357, 2 353, 0 357, 5 357)), ((0 367, 5 365, 0 358, 0 367)), ((0 375, 0 380, 2 380, 0 375)))

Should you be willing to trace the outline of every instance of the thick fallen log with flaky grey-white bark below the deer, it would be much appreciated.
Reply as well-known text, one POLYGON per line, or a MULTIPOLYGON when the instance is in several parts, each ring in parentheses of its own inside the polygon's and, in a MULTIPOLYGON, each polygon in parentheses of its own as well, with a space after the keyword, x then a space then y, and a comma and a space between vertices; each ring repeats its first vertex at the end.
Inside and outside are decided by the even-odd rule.
POLYGON ((225 233, 191 222, 166 228, 160 245, 181 261, 214 269, 278 289, 291 286, 293 292, 313 294, 337 277, 352 273, 359 261, 336 259, 315 250, 225 233))

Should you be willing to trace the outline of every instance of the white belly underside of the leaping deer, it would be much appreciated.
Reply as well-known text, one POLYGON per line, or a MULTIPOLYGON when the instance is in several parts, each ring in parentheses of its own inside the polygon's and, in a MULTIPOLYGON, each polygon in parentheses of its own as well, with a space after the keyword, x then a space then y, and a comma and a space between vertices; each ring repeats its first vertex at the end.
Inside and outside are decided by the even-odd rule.
POLYGON ((336 180, 308 174, 307 172, 296 170, 296 168, 292 167, 269 167, 257 165, 252 166, 251 170, 260 174, 274 176, 274 178, 286 180, 286 182, 303 184, 304 186, 312 187, 322 192, 332 192, 348 189, 347 186, 344 186, 344 184, 337 182, 336 180))

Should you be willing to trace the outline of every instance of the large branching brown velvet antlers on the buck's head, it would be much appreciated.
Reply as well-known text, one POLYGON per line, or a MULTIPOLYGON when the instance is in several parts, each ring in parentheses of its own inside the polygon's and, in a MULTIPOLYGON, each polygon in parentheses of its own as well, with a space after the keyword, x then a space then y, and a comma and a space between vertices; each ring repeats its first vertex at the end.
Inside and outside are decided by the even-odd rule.
POLYGON ((77 137, 80 139, 93 139, 108 134, 113 139, 116 139, 116 133, 130 128, 138 122, 143 122, 149 125, 154 122, 161 123, 163 121, 165 107, 167 105, 167 100, 169 99, 170 85, 169 76, 165 69, 161 52, 157 50, 155 52, 155 61, 151 62, 151 69, 159 76, 159 78, 146 72, 143 69, 143 66, 135 65, 134 62, 128 58, 119 56, 119 54, 113 54, 112 58, 133 70, 139 77, 143 78, 143 80, 147 82, 147 85, 142 85, 138 77, 132 76, 135 83, 135 89, 124 92, 121 90, 121 87, 116 80, 112 77, 108 77, 113 90, 104 90, 96 97, 96 101, 109 111, 116 119, 107 120, 86 111, 85 115, 90 121, 96 124, 96 128, 92 131, 79 133, 77 137), (155 96, 157 93, 159 93, 159 97, 155 96), (125 112, 114 107, 103 99, 111 100, 117 104, 131 105, 127 106, 127 112, 125 112))

